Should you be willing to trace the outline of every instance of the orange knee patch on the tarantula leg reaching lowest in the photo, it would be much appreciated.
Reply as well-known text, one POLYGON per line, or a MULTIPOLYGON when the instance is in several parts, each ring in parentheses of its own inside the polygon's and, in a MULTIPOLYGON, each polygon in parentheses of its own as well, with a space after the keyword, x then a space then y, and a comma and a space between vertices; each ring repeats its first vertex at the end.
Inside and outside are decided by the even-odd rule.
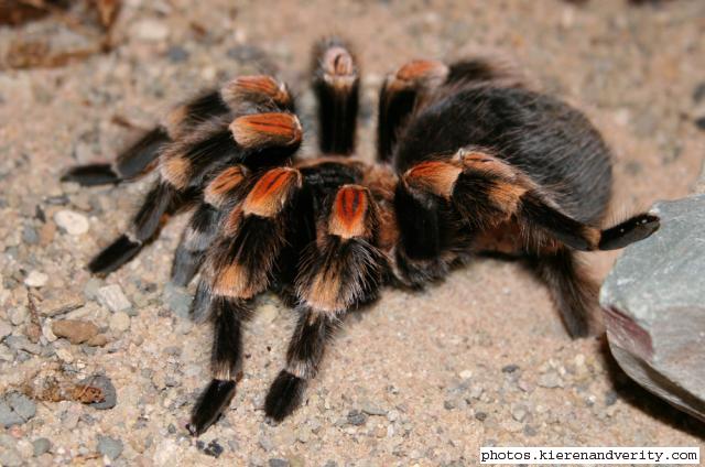
POLYGON ((257 181, 247 195, 242 203, 242 213, 274 217, 301 184, 302 177, 299 171, 290 167, 272 169, 257 181))

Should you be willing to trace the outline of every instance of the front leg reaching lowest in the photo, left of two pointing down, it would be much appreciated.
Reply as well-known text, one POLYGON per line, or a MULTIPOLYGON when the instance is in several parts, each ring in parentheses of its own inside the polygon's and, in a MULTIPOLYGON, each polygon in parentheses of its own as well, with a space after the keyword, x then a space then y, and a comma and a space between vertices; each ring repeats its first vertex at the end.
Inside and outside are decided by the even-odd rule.
POLYGON ((188 426, 194 435, 210 426, 230 403, 242 360, 242 323, 251 315, 248 301, 269 287, 302 186, 301 173, 290 167, 253 178, 242 203, 220 224, 194 304, 194 319, 210 319, 215 334, 213 380, 194 406, 188 426))

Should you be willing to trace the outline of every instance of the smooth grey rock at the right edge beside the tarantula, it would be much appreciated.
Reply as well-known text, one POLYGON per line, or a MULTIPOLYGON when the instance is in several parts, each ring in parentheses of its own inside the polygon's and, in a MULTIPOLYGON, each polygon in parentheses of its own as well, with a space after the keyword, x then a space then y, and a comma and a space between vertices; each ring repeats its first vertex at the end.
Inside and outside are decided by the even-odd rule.
POLYGON ((609 347, 649 391, 705 421, 705 195, 658 203, 661 228, 600 291, 609 347))

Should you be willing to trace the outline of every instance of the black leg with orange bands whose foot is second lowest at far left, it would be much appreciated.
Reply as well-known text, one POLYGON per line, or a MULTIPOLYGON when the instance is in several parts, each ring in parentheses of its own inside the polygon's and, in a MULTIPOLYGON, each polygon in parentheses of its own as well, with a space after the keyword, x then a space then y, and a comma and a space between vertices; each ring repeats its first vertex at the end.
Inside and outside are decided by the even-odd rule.
POLYGON ((155 238, 163 216, 196 199, 218 169, 232 163, 282 163, 299 149, 301 138, 299 120, 288 112, 245 115, 231 122, 220 117, 199 126, 161 155, 160 178, 134 217, 131 231, 100 252, 90 262, 90 271, 107 274, 132 259, 155 238))

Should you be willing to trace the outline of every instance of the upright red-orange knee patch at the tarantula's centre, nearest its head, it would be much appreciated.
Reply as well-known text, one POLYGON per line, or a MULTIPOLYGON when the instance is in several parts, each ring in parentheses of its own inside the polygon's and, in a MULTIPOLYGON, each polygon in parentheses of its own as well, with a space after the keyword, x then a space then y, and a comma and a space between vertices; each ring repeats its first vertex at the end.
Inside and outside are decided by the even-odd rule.
POLYGON ((357 185, 338 189, 328 219, 328 234, 341 238, 368 234, 369 192, 357 185))

